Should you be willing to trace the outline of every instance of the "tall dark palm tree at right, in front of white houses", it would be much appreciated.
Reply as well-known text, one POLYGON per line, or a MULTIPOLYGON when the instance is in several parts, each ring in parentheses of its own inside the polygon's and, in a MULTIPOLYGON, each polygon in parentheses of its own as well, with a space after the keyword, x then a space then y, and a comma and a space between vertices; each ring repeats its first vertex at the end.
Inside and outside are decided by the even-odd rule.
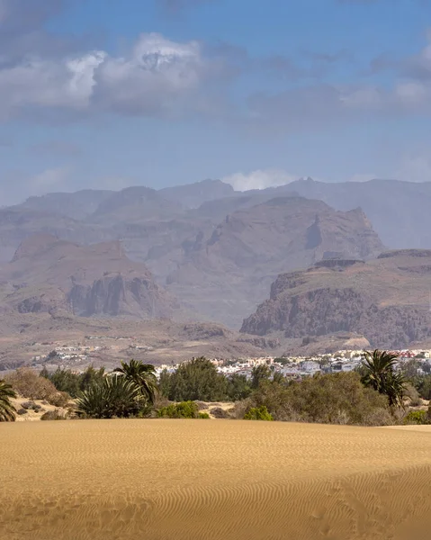
POLYGON ((363 383, 387 395, 390 405, 402 405, 405 379, 394 370, 398 355, 379 349, 375 349, 373 353, 365 351, 364 355, 363 383))

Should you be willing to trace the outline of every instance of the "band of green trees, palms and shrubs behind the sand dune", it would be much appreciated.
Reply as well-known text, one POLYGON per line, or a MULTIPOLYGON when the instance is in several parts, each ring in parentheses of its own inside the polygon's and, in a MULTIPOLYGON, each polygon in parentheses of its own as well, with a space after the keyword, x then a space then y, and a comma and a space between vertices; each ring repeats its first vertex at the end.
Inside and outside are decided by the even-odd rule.
MULTIPOLYGON (((410 381, 415 390, 407 374, 395 370, 397 360, 389 352, 375 350, 365 353, 364 363, 356 372, 316 374, 292 381, 274 374, 267 365, 254 367, 250 380, 240 374, 227 377, 219 374, 211 361, 199 357, 173 373, 165 370, 158 382, 153 365, 130 360, 121 362, 112 373, 92 366, 83 374, 62 368, 49 374, 44 369, 32 375, 37 379, 32 384, 48 392, 49 383, 59 394, 73 398, 76 418, 207 418, 208 414, 196 408, 197 401, 233 401, 229 418, 368 426, 405 419, 412 423, 431 421, 431 410, 405 410, 406 397, 412 401, 412 389, 417 398, 427 399, 427 389, 431 388, 427 377, 431 379, 431 374, 419 377, 412 368, 410 381), (425 392, 420 393, 420 389, 425 392)), ((33 399, 38 399, 39 391, 29 390, 31 377, 27 372, 17 376, 17 370, 14 377, 0 382, 0 421, 14 419, 10 401, 15 392, 32 392, 33 399)))

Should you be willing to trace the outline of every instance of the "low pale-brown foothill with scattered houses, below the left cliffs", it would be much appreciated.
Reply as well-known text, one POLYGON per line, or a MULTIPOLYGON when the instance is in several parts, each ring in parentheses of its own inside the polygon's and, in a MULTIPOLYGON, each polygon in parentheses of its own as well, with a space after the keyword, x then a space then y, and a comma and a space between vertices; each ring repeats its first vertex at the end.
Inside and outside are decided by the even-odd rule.
POLYGON ((218 324, 138 320, 124 317, 76 317, 70 313, 0 313, 0 374, 22 365, 40 369, 48 362, 84 369, 112 369, 135 358, 150 364, 171 364, 193 356, 240 358, 276 355, 277 338, 248 336, 218 324), (74 347, 78 357, 46 358, 58 347, 74 347), (32 358, 40 360, 32 362, 32 358))

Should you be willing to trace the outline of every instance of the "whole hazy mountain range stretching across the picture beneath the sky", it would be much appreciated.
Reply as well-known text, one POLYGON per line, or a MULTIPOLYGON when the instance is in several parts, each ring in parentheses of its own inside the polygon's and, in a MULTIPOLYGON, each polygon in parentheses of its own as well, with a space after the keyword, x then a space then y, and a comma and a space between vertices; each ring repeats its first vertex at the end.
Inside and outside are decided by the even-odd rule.
POLYGON ((409 311, 423 311, 417 303, 428 294, 427 265, 420 270, 421 293, 409 308, 400 300, 402 291, 391 294, 387 304, 384 283, 397 291, 410 284, 403 284, 400 270, 387 262, 398 256, 385 254, 409 249, 402 252, 403 265, 416 267, 410 265, 419 258, 414 254, 431 248, 429 202, 431 183, 330 184, 310 178, 248 192, 205 180, 158 191, 134 186, 31 197, 0 209, 0 312, 207 320, 231 329, 242 324, 244 332, 258 336, 278 332, 286 339, 353 331, 373 344, 404 344, 427 337, 418 329, 421 317, 409 311), (358 262, 343 266, 340 261, 358 262), (363 267, 373 268, 370 283, 377 280, 381 288, 370 286, 359 301, 355 287, 355 294, 347 293, 343 280, 351 273, 363 275, 356 270, 363 267), (292 285, 299 278, 286 275, 307 276, 307 294, 327 291, 316 293, 321 304, 304 301, 292 285), (310 280, 314 275, 319 283, 310 280), (342 280, 336 289, 334 275, 342 280), (298 297, 295 302, 319 313, 320 325, 305 322, 308 316, 292 319, 291 296, 289 301, 286 293, 274 296, 284 283, 298 297), (264 302, 268 296, 269 304, 264 302), (352 324, 337 324, 329 310, 321 309, 337 298, 366 316, 349 318, 343 311, 341 319, 346 315, 352 324), (371 316, 386 304, 398 313, 395 333, 371 316), (411 331, 406 330, 407 311, 411 331), (294 323, 287 324, 285 317, 294 323))

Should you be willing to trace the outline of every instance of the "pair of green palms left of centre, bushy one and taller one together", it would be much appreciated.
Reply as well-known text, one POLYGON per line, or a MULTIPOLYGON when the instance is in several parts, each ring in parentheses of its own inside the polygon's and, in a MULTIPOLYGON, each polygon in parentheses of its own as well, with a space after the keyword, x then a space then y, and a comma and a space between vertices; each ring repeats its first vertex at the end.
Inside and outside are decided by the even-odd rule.
POLYGON ((145 416, 153 405, 157 379, 153 365, 121 362, 102 383, 92 384, 76 401, 77 414, 94 419, 145 416))

